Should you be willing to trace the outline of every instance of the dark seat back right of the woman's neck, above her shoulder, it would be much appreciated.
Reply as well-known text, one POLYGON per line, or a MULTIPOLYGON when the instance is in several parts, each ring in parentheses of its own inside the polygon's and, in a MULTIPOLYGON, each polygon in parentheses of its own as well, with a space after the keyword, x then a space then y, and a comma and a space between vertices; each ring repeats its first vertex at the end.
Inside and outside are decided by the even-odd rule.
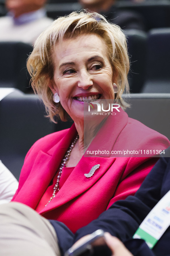
POLYGON ((170 93, 123 94, 130 104, 126 109, 129 117, 165 135, 170 140, 170 93))

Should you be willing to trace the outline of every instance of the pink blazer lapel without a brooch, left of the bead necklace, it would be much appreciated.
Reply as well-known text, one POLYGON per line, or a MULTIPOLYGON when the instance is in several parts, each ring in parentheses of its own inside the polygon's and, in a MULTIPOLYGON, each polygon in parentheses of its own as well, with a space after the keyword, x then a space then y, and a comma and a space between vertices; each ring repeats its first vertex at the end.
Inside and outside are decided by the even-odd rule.
MULTIPOLYGON (((77 135, 75 125, 68 130, 66 135, 49 149, 48 152, 39 151, 35 158, 30 174, 21 188, 15 200, 22 201, 35 208, 58 170, 61 161, 68 149, 72 138, 77 135), (28 190, 29 188, 29 190, 28 190), (25 194, 23 198, 23 194, 25 194)), ((23 170, 24 171, 24 170, 23 170)))

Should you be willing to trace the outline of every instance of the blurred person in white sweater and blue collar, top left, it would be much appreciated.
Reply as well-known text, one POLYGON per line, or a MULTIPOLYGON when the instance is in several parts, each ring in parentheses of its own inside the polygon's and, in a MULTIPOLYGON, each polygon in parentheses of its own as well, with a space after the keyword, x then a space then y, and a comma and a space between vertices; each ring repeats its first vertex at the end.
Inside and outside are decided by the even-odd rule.
POLYGON ((0 18, 0 41, 34 44, 41 32, 53 22, 46 16, 47 0, 6 0, 6 16, 0 18))

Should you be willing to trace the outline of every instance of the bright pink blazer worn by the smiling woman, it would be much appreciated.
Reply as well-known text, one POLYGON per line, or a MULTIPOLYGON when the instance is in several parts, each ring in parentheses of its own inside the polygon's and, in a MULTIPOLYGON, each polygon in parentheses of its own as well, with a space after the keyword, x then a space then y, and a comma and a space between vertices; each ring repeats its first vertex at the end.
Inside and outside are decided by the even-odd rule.
MULTIPOLYGON (((72 125, 70 129, 41 138, 31 147, 12 201, 36 208, 76 135, 75 125, 72 125)), ((170 145, 165 136, 128 118, 123 110, 121 118, 120 115, 112 116, 110 120, 108 118, 94 142, 100 142, 104 136, 106 139, 101 145, 98 144, 101 149, 110 151, 118 150, 122 145, 125 149, 130 147, 137 151, 163 150, 170 145)), ((125 199, 137 191, 158 159, 146 156, 82 157, 55 198, 39 213, 45 218, 63 222, 75 232, 97 218, 115 201, 125 199), (100 168, 91 178, 86 178, 84 173, 88 173, 95 164, 100 164, 100 168)))

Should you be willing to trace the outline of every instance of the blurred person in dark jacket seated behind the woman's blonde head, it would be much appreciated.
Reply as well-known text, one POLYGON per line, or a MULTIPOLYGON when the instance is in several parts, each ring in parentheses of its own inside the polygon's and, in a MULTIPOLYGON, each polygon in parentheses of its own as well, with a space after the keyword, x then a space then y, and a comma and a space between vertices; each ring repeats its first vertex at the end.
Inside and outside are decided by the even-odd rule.
POLYGON ((116 0, 79 0, 82 8, 106 16, 107 20, 119 25, 123 30, 145 30, 143 17, 140 14, 130 10, 119 10, 116 2, 116 0))

